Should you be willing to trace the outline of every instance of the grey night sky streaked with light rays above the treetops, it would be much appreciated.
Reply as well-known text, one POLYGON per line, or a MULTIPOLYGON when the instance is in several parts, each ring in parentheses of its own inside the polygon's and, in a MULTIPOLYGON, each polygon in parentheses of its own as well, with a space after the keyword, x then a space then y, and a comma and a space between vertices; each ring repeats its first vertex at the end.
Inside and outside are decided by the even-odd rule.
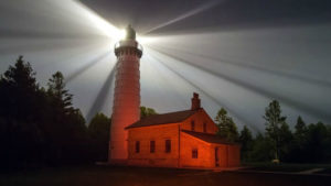
POLYGON ((273 99, 291 127, 299 114, 331 121, 327 0, 0 1, 0 73, 20 54, 42 86, 61 70, 90 118, 111 113, 116 41, 86 12, 136 29, 145 48, 141 105, 158 112, 189 109, 196 91, 212 118, 225 107, 239 129, 263 131, 273 99))

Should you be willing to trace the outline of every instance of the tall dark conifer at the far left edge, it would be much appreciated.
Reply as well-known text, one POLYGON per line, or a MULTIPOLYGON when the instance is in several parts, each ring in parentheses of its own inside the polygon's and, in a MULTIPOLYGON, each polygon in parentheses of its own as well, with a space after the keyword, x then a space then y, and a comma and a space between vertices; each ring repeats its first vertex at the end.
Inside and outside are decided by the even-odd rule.
POLYGON ((3 166, 39 161, 43 135, 39 129, 42 96, 30 63, 20 56, 0 78, 0 153, 3 166), (22 155, 24 154, 24 155, 22 155))

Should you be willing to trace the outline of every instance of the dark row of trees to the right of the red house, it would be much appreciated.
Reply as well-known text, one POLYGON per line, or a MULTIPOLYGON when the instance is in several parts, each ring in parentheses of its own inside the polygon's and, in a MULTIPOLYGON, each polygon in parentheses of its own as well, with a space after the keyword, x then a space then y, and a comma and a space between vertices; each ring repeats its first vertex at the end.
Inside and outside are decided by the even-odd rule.
POLYGON ((245 125, 238 133, 225 109, 215 118, 218 135, 242 144, 243 162, 330 163, 331 127, 322 122, 307 124, 298 117, 291 131, 280 105, 273 100, 265 110, 266 130, 255 136, 245 125))

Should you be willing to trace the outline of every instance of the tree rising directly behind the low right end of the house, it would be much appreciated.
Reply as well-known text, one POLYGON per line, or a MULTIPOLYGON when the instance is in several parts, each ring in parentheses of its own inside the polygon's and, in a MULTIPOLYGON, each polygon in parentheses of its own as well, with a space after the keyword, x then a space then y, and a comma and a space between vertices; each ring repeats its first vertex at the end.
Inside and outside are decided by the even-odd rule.
POLYGON ((224 108, 221 108, 221 110, 217 112, 215 121, 218 127, 217 134, 221 138, 224 138, 229 142, 235 142, 238 140, 237 127, 233 119, 227 116, 227 111, 224 108))

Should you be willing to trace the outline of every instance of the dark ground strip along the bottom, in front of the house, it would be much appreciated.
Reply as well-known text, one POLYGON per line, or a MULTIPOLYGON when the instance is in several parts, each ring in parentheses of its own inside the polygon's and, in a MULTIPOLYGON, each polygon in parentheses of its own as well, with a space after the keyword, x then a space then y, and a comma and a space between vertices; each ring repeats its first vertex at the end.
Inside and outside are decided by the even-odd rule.
POLYGON ((81 166, 0 173, 2 186, 329 186, 331 175, 242 169, 215 172, 174 168, 81 166))

